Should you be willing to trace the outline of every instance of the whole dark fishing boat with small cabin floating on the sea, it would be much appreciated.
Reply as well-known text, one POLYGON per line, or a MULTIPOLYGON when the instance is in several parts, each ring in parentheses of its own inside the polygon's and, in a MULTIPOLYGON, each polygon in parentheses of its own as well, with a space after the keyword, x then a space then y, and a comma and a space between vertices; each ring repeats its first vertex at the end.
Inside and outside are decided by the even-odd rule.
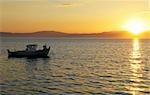
POLYGON ((36 44, 29 44, 26 45, 26 49, 22 51, 8 51, 8 57, 27 57, 27 58, 47 58, 48 53, 50 51, 50 47, 46 47, 46 45, 43 46, 43 49, 37 50, 36 44))

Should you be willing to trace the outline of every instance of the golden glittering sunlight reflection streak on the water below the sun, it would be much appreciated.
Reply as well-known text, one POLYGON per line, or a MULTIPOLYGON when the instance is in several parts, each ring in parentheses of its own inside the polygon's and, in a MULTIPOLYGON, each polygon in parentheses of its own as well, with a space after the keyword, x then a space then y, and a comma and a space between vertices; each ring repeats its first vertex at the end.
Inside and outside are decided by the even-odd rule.
POLYGON ((141 52, 140 52, 140 42, 138 38, 133 40, 133 48, 130 56, 130 70, 131 70, 131 85, 129 90, 131 91, 132 95, 140 95, 140 91, 143 91, 143 88, 140 88, 142 85, 142 80, 140 77, 143 77, 142 68, 144 67, 142 64, 141 59, 141 52))

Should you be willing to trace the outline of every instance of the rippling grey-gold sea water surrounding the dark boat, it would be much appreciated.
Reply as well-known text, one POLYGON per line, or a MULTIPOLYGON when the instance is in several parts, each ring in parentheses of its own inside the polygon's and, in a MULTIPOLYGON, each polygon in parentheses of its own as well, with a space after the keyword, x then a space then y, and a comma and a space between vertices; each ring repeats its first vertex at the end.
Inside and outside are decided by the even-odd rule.
POLYGON ((150 40, 1 38, 0 51, 1 94, 150 94, 150 40), (50 58, 7 58, 29 43, 50 45, 50 58))

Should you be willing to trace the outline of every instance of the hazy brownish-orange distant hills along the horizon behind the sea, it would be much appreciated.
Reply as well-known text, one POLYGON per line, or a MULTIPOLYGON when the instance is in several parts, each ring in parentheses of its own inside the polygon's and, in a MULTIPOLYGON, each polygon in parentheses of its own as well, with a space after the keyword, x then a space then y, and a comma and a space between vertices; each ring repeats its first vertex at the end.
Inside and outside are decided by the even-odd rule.
MULTIPOLYGON (((57 31, 39 31, 33 33, 11 33, 0 32, 1 37, 100 37, 100 38, 132 38, 132 35, 126 31, 110 31, 91 34, 69 34, 57 31)), ((150 39, 150 31, 142 34, 143 38, 150 39)))

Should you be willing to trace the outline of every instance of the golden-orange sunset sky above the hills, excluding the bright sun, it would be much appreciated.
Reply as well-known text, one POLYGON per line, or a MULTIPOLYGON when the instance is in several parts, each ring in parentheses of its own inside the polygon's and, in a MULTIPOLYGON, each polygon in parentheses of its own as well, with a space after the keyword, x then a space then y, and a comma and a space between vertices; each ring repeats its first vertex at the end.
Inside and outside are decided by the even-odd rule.
POLYGON ((3 32, 55 30, 95 33, 122 30, 131 18, 150 25, 149 0, 2 0, 3 32))

